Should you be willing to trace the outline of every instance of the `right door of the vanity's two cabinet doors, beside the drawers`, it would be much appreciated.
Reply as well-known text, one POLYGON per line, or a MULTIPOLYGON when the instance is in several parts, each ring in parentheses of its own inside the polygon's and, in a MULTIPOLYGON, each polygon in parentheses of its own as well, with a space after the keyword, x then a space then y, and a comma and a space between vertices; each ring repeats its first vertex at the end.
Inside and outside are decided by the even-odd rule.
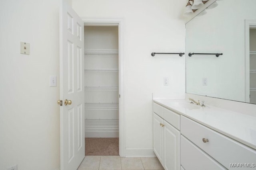
POLYGON ((180 131, 164 121, 164 169, 180 169, 180 131))

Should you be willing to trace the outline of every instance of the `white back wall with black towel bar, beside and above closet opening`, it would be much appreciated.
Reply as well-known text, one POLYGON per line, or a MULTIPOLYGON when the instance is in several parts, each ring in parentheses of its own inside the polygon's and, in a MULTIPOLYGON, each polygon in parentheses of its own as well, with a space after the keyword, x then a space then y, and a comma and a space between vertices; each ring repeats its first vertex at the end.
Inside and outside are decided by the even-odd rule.
POLYGON ((126 156, 153 155, 152 92, 185 92, 185 25, 180 0, 73 0, 80 17, 124 19, 126 156), (164 77, 169 86, 163 86, 164 77))

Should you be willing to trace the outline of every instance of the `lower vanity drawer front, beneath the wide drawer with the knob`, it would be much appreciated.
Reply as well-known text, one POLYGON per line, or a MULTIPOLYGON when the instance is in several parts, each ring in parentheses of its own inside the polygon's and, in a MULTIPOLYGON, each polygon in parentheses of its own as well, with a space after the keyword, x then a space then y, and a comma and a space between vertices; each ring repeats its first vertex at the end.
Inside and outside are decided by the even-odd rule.
POLYGON ((180 137, 180 164, 185 170, 226 170, 182 135, 180 137))

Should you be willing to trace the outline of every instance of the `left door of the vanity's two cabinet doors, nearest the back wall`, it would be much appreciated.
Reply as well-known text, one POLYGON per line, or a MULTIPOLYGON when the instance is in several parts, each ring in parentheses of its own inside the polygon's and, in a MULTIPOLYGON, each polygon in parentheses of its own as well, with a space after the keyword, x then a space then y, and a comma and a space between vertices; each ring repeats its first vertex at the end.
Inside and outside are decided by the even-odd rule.
POLYGON ((163 163, 163 119, 153 113, 153 148, 159 161, 163 163))

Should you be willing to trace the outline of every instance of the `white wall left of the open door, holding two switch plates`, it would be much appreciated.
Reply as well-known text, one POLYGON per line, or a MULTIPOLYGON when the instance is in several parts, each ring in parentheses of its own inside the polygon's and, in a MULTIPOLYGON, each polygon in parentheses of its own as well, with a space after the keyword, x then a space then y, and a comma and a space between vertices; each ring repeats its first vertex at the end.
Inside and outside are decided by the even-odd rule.
POLYGON ((4 0, 0 13, 0 169, 55 170, 59 85, 49 79, 59 78, 59 0, 4 0), (20 41, 30 55, 20 54, 20 41))

